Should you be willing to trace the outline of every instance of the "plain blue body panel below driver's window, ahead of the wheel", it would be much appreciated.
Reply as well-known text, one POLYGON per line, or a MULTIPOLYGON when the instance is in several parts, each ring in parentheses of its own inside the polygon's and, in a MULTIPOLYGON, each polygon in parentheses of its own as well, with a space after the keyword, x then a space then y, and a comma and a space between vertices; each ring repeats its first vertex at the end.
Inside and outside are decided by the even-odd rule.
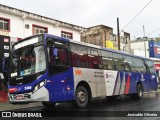
POLYGON ((49 91, 49 101, 60 102, 74 99, 73 68, 52 75, 47 79, 51 81, 46 86, 49 91))

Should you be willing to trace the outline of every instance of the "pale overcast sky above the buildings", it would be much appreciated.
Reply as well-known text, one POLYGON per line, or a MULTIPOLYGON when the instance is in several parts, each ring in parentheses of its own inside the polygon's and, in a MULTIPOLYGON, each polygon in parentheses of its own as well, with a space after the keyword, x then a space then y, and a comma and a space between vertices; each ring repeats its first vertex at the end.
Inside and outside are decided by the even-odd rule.
MULTIPOLYGON (((120 30, 151 0, 0 0, 0 4, 29 11, 60 21, 91 27, 106 25, 116 30, 119 17, 120 30)), ((127 26, 124 31, 132 39, 145 36, 160 37, 160 0, 152 2, 127 26)))

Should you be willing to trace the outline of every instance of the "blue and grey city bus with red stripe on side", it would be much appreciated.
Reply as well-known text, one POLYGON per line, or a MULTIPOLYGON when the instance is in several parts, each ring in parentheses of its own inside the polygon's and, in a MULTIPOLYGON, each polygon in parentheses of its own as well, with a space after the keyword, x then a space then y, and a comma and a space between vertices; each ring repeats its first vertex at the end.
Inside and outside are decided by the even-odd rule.
POLYGON ((157 90, 152 60, 46 33, 16 42, 9 61, 12 104, 73 102, 83 108, 92 98, 141 99, 144 92, 157 90))

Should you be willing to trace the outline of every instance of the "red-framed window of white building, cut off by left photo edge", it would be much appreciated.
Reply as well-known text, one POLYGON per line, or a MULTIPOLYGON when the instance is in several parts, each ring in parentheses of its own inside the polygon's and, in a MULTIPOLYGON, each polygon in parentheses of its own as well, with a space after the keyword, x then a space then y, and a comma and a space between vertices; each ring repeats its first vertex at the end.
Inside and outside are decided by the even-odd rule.
POLYGON ((0 30, 10 31, 10 20, 0 17, 0 30))

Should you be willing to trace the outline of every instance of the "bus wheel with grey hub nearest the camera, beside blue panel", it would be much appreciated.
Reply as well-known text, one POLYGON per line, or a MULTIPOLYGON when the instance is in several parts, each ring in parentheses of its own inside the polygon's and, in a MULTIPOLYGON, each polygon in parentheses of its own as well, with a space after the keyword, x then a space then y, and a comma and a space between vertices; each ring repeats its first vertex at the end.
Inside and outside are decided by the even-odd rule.
POLYGON ((84 108, 89 103, 89 94, 84 86, 79 86, 75 92, 74 105, 79 108, 84 108))

